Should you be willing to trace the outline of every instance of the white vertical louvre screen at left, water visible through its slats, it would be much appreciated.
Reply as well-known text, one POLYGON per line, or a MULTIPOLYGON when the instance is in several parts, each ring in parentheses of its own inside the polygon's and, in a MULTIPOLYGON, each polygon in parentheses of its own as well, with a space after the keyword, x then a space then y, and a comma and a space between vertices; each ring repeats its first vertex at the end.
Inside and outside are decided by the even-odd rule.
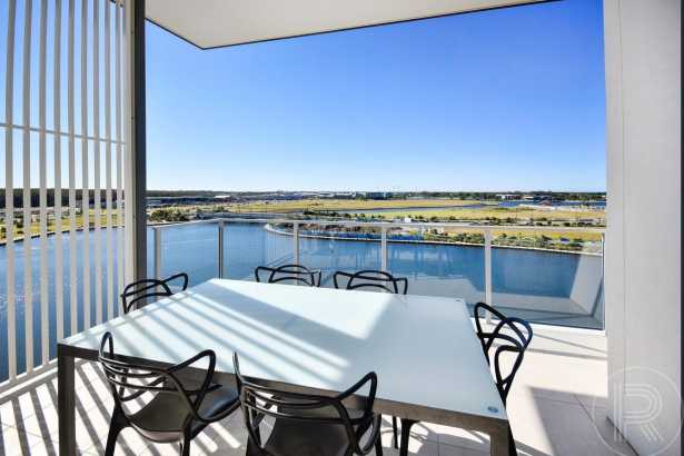
POLYGON ((130 176, 130 8, 0 4, 0 389, 118 315, 130 176))

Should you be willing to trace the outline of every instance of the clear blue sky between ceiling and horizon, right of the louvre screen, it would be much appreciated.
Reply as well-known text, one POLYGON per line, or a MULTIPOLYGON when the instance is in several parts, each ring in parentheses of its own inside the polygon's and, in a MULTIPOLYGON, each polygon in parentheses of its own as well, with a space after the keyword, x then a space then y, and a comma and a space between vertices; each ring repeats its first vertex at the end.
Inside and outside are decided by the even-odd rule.
POLYGON ((605 190, 599 1, 208 51, 148 40, 150 188, 605 190))

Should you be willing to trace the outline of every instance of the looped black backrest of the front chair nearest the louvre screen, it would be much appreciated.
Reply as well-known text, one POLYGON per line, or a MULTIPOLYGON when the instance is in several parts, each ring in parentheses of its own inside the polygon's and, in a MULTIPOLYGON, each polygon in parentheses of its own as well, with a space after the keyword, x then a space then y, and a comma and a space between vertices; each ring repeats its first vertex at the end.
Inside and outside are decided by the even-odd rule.
POLYGON ((151 393, 153 395, 162 394, 180 397, 180 402, 188 416, 206 422, 199 415, 199 407, 207 393, 211 391, 215 387, 211 384, 216 367, 216 355, 212 350, 204 350, 176 366, 159 368, 120 359, 115 354, 111 333, 105 333, 100 343, 98 360, 105 370, 105 377, 109 383, 116 406, 127 417, 130 417, 130 414, 123 404, 137 399, 146 393, 151 393), (198 389, 186 388, 176 374, 205 358, 207 359, 208 367, 201 386, 198 389))

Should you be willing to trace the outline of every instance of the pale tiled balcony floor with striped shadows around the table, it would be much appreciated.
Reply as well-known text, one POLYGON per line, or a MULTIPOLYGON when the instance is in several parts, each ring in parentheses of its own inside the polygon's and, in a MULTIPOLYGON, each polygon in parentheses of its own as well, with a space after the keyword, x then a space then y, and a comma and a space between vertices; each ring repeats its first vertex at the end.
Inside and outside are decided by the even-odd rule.
MULTIPOLYGON (((95 364, 77 366, 76 381, 77 443, 81 454, 100 455, 112 399, 95 364)), ((58 454, 56 405, 54 374, 22 394, 0 399, 0 455, 58 454)), ((635 455, 628 445, 614 443, 613 428, 606 419, 606 344, 599 335, 537 329, 510 391, 508 415, 521 455, 635 455), (613 443, 613 448, 604 440, 613 443)), ((389 420, 386 425, 385 454, 396 455, 390 446, 389 420)), ((410 454, 488 454, 485 435, 430 424, 418 424, 412 432, 410 454)), ((246 437, 241 417, 234 414, 196 438, 192 454, 244 455, 246 437)), ((117 453, 176 455, 178 449, 148 444, 127 429, 119 437, 117 453)))

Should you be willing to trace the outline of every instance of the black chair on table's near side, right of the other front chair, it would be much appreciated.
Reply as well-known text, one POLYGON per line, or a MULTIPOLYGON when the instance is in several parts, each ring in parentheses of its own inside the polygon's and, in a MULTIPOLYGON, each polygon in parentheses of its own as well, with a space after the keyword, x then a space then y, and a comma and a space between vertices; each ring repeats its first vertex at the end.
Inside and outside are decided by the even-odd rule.
POLYGON ((248 432, 247 456, 351 456, 375 448, 383 455, 380 415, 373 413, 377 376, 368 373, 337 396, 284 391, 242 377, 237 353, 232 359, 242 417, 248 432), (349 409, 359 389, 368 385, 363 409, 349 409), (262 442, 259 426, 270 417, 272 429, 262 442), (364 443, 365 440, 365 443, 364 443))

